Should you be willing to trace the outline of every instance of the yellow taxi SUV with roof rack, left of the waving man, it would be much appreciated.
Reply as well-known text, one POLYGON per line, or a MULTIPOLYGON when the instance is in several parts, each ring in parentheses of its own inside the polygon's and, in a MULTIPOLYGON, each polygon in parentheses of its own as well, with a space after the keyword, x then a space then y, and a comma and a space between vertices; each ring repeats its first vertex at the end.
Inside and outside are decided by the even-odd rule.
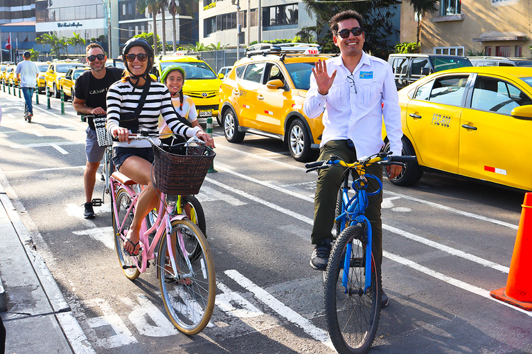
POLYGON ((255 45, 220 87, 220 116, 229 142, 246 133, 283 140, 296 161, 310 160, 321 142, 321 116, 309 119, 303 102, 318 59, 316 46, 255 45), (305 54, 306 53, 306 54, 305 54))

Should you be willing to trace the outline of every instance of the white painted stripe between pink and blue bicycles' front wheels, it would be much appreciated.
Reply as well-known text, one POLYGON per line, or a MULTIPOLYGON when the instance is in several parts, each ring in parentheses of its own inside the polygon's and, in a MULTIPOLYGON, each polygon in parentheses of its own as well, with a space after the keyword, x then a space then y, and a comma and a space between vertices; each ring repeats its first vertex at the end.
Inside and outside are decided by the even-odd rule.
POLYGON ((319 342, 322 342, 329 348, 335 349, 335 347, 332 346, 332 342, 330 342, 329 335, 325 330, 314 326, 314 324, 312 324, 308 319, 299 315, 299 313, 296 313, 294 310, 292 310, 292 308, 289 308, 288 306, 283 304, 281 301, 269 294, 269 292, 267 292, 263 288, 260 288, 251 280, 244 277, 237 270, 226 270, 224 271, 224 273, 229 278, 239 283, 240 286, 242 286, 246 290, 253 292, 254 296, 257 299, 263 301, 264 304, 269 306, 269 308, 272 308, 272 310, 274 310, 276 313, 278 313, 282 317, 285 317, 285 319, 292 322, 296 326, 301 327, 305 331, 305 333, 318 340, 319 342))

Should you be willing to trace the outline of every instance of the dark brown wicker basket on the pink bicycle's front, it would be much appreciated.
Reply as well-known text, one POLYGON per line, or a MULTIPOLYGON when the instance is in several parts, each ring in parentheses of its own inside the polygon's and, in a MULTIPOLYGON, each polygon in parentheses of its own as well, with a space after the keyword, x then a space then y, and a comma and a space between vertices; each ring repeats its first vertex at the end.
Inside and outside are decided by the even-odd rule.
POLYGON ((154 187, 164 194, 197 194, 216 153, 205 146, 183 147, 178 153, 169 152, 169 148, 153 146, 154 187))

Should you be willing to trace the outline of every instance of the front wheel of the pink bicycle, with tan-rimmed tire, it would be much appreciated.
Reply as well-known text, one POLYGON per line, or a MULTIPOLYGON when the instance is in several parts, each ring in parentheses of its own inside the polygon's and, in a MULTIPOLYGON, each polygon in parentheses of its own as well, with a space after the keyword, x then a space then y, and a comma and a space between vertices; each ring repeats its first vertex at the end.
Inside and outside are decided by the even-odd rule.
MULTIPOLYGON (((159 257, 157 259, 157 273, 159 286, 163 297, 166 313, 174 326, 186 335, 201 332, 213 315, 216 296, 216 278, 214 261, 209 244, 197 225, 189 220, 175 220, 171 223, 171 244, 174 248, 176 267, 179 274, 172 274, 168 269, 168 234, 159 243, 159 257), (193 239, 199 244, 201 254, 195 261, 190 261, 192 269, 181 252, 176 247, 177 232, 186 239, 193 239), (187 274, 187 277, 181 277, 187 274)), ((171 266, 170 266, 171 268, 171 266)))

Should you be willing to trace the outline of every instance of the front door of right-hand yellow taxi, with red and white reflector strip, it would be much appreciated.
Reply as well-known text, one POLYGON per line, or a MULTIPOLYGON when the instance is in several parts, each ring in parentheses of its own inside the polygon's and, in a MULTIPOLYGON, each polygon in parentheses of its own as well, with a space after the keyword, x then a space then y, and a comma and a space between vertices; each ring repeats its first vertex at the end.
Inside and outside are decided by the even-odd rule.
POLYGON ((517 84, 479 76, 471 108, 460 127, 459 173, 511 187, 532 188, 532 167, 522 162, 530 149, 532 121, 513 118, 516 106, 532 104, 517 84))

